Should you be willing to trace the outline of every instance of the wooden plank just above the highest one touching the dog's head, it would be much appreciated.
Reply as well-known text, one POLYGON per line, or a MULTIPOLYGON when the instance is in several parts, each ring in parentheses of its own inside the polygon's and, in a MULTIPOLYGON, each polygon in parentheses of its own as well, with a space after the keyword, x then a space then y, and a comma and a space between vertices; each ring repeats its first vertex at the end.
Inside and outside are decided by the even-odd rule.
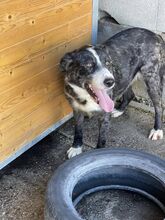
POLYGON ((30 59, 30 56, 36 56, 39 52, 52 49, 52 47, 64 44, 78 35, 89 32, 90 27, 89 16, 83 16, 76 21, 7 48, 0 52, 0 67, 5 69, 9 65, 17 66, 18 63, 30 59))

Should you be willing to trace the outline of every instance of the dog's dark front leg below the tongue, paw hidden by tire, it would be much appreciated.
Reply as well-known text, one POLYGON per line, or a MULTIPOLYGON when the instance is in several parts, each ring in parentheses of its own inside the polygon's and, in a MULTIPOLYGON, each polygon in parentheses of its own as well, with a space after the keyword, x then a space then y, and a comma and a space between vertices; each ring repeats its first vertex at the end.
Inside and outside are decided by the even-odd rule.
POLYGON ((97 148, 105 147, 106 139, 109 131, 110 114, 104 113, 99 119, 99 138, 97 142, 97 148))

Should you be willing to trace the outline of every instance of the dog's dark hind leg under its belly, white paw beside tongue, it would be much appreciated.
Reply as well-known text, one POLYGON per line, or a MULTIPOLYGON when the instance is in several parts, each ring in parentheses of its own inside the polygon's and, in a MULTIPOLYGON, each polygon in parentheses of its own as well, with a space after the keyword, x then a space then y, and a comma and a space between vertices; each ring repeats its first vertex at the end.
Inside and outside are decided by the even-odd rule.
POLYGON ((128 87, 128 89, 124 92, 122 98, 121 98, 121 103, 119 104, 117 109, 114 109, 113 112, 111 113, 111 117, 117 118, 120 115, 122 115, 130 103, 130 101, 135 97, 135 94, 132 90, 132 86, 128 87))

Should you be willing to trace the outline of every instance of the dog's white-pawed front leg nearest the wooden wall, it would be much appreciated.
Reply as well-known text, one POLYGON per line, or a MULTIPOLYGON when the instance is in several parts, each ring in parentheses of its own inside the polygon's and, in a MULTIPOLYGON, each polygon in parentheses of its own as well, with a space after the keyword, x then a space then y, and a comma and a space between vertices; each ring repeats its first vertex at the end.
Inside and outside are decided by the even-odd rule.
POLYGON ((82 127, 84 122, 84 114, 82 112, 74 112, 75 133, 72 147, 67 151, 68 158, 74 157, 82 153, 83 133, 82 127))

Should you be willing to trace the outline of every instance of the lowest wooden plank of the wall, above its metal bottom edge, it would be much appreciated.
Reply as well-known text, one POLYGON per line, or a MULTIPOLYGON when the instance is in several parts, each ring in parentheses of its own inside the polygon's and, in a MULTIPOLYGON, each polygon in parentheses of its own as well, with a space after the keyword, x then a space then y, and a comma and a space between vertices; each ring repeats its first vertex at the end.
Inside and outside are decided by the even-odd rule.
POLYGON ((37 108, 23 120, 20 120, 19 126, 15 125, 3 133, 1 140, 1 160, 12 155, 21 146, 33 140, 36 136, 49 128, 54 122, 57 122, 65 115, 71 112, 63 95, 56 96, 51 101, 46 102, 37 108), (65 106, 65 111, 63 107, 65 106), (65 113, 65 114, 64 114, 65 113))

